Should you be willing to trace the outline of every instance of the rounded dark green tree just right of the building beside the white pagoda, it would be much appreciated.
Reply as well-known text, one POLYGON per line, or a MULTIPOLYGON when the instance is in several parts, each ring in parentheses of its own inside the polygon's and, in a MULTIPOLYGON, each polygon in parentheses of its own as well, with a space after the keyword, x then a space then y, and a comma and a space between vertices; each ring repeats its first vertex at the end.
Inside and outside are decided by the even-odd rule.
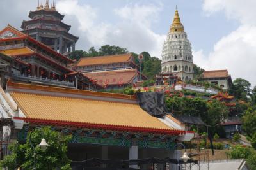
POLYGON ((243 78, 237 78, 233 81, 232 85, 229 88, 229 94, 232 94, 236 99, 241 99, 243 101, 248 101, 248 96, 251 92, 251 83, 243 78))

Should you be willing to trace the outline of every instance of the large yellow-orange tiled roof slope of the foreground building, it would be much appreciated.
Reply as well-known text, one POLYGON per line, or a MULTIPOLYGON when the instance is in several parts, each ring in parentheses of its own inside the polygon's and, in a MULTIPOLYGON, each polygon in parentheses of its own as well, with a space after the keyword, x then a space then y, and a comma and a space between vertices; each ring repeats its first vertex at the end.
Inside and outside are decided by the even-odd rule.
POLYGON ((138 104, 20 92, 10 94, 27 118, 172 130, 138 104))

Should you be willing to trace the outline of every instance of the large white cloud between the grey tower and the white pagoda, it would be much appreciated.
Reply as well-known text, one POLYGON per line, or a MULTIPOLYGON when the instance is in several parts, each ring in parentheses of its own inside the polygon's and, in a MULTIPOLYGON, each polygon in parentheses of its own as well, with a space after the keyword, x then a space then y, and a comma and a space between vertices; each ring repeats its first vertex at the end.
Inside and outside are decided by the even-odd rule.
POLYGON ((108 20, 102 22, 98 18, 99 9, 79 4, 77 0, 58 1, 56 6, 65 14, 68 23, 77 25, 77 31, 73 32, 80 37, 79 48, 86 50, 90 46, 99 48, 109 44, 125 47, 136 53, 148 51, 151 55, 161 57, 159 55, 165 35, 156 34, 151 29, 152 23, 157 21, 161 4, 129 4, 116 8, 111 13, 120 19, 116 23, 108 20))

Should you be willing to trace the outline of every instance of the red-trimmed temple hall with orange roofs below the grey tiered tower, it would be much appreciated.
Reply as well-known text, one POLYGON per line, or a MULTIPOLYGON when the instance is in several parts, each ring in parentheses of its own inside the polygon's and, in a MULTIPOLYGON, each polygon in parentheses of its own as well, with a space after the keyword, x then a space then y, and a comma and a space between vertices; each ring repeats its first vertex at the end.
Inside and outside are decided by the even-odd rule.
POLYGON ((0 31, 0 53, 13 61, 12 66, 16 63, 16 68, 12 67, 12 72, 8 73, 8 77, 15 81, 76 89, 99 88, 90 86, 92 81, 83 74, 74 74, 72 68, 68 67, 74 63, 73 60, 11 25, 0 31))

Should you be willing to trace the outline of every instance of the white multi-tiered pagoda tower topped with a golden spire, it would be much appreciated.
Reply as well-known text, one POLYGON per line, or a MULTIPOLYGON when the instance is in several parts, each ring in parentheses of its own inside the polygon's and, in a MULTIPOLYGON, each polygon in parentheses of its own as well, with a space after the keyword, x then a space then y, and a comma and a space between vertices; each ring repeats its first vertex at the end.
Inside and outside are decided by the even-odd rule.
POLYGON ((162 50, 162 73, 175 73, 182 81, 193 80, 193 55, 191 43, 180 22, 176 7, 172 25, 162 50))

